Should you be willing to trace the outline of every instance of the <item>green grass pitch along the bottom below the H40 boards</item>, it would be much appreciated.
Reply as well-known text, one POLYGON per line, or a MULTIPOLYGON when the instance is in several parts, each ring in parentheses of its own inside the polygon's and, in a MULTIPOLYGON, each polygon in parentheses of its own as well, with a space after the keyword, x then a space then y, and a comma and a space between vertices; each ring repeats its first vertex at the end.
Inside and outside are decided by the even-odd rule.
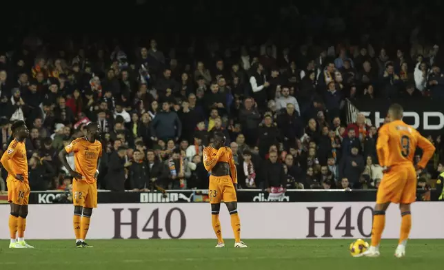
POLYGON ((396 240, 383 240, 381 257, 352 258, 352 240, 233 240, 215 249, 215 240, 90 240, 92 249, 75 249, 73 240, 30 240, 36 249, 8 249, 0 240, 0 269, 439 269, 444 240, 410 240, 407 257, 394 258, 396 240), (302 268, 303 267, 303 268, 302 268))

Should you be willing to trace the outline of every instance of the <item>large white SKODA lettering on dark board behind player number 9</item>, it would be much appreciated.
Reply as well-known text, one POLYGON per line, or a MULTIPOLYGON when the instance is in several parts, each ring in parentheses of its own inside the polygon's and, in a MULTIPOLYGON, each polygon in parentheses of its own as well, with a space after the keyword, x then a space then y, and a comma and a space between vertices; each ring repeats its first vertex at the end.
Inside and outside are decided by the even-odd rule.
MULTIPOLYGON (((371 112, 362 112, 365 118, 369 118, 371 112)), ((417 112, 404 112, 403 120, 410 123, 414 129, 422 128, 424 130, 439 130, 444 128, 444 114, 441 112, 423 112, 423 123, 421 127, 421 116, 417 112), (430 121, 434 118, 433 121, 430 121), (412 122, 413 119, 413 122, 412 122), (430 123, 433 122, 434 124, 430 123)), ((374 112, 374 119, 370 119, 375 127, 383 125, 385 114, 381 112, 374 112), (374 120, 374 121, 373 121, 374 120)))

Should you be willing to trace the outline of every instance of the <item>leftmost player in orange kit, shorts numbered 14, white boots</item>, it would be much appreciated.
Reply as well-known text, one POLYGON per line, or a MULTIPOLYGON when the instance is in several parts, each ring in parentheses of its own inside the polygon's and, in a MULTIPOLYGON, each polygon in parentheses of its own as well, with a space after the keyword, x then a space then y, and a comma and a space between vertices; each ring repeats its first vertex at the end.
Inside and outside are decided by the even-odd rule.
POLYGON ((29 136, 25 122, 16 121, 11 125, 14 139, 1 156, 1 164, 8 171, 8 201, 11 205, 9 216, 10 249, 33 248, 25 242, 26 217, 30 187, 28 182, 28 158, 25 139, 29 136), (16 236, 18 234, 18 238, 16 236))

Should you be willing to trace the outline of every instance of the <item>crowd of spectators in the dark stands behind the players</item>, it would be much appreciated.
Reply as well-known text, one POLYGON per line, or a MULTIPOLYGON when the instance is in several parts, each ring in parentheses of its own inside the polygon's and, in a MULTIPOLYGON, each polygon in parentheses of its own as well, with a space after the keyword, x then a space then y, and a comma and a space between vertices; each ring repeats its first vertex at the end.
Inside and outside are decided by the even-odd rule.
MULTIPOLYGON (((358 14, 359 8, 378 16, 365 3, 358 14)), ((202 150, 221 131, 243 189, 377 188, 377 129, 363 114, 347 123, 346 98, 444 98, 441 36, 430 38, 427 19, 408 21, 418 17, 417 7, 407 14, 383 11, 391 25, 387 36, 404 26, 390 39, 363 17, 337 9, 305 17, 294 6, 284 11, 281 24, 302 28, 305 20, 303 39, 232 34, 224 41, 150 38, 128 46, 26 37, 0 53, 2 149, 10 123, 25 120, 31 189, 65 189, 71 178, 57 153, 97 121, 104 147, 101 189, 205 189, 202 150), (347 36, 352 22, 367 32, 347 36)), ((430 140, 438 151, 421 187, 443 169, 441 136, 430 140)), ((4 190, 3 180, 0 185, 4 190)))

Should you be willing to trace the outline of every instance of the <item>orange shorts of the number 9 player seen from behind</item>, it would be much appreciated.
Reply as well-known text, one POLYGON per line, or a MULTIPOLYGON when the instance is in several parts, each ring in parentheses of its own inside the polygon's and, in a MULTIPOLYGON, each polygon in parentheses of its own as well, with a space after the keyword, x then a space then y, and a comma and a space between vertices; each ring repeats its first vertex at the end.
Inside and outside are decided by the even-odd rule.
POLYGON ((416 201, 416 171, 413 165, 396 165, 384 174, 376 203, 410 204, 416 201))

